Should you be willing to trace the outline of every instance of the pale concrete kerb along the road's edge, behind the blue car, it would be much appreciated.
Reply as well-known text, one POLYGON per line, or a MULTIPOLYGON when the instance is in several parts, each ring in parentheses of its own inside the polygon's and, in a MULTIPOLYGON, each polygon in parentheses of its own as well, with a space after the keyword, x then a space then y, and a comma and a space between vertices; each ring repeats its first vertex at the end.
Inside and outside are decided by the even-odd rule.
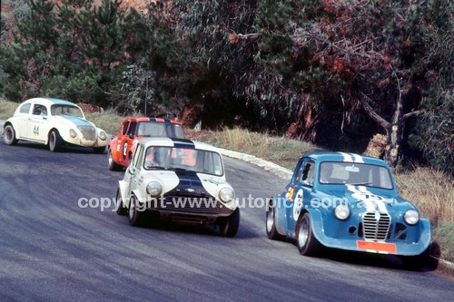
MULTIPOLYGON (((227 150, 227 149, 222 149, 222 148, 218 148, 218 149, 221 151, 222 155, 224 155, 224 156, 230 157, 235 160, 240 160, 240 161, 245 161, 245 162, 251 163, 252 165, 258 166, 258 167, 262 168, 263 170, 267 170, 267 171, 271 172, 271 174, 274 174, 274 175, 280 177, 282 180, 291 180, 291 176, 293 175, 291 170, 283 168, 274 162, 265 161, 256 156, 238 152, 238 151, 232 151, 232 150, 227 150)), ((450 277, 454 277, 454 263, 434 257, 432 255, 430 255, 430 258, 432 258, 433 260, 435 260, 437 262, 436 270, 438 270, 446 275, 449 275, 450 277)))

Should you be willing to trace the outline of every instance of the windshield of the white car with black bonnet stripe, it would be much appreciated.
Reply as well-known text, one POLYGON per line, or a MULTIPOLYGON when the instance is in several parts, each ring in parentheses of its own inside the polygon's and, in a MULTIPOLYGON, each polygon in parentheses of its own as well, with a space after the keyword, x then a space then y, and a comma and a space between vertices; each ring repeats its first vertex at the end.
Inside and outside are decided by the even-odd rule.
POLYGON ((212 151, 173 147, 149 147, 143 161, 145 170, 190 170, 222 176, 221 155, 212 151))

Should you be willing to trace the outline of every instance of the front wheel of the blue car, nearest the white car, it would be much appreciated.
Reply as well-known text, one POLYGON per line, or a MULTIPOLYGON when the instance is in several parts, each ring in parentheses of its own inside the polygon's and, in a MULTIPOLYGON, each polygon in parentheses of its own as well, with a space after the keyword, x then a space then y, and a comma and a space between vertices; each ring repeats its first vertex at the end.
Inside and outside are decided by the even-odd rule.
POLYGON ((321 243, 315 238, 311 227, 311 215, 304 213, 296 224, 296 246, 301 255, 314 256, 321 250, 321 243))

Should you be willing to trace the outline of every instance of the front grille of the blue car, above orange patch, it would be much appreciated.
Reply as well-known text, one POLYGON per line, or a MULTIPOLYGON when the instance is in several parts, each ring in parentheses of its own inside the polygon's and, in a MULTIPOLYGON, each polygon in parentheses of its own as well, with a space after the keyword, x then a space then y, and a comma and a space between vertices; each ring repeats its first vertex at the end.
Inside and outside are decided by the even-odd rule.
POLYGON ((362 216, 364 239, 385 240, 390 231, 391 218, 388 213, 370 211, 362 216))

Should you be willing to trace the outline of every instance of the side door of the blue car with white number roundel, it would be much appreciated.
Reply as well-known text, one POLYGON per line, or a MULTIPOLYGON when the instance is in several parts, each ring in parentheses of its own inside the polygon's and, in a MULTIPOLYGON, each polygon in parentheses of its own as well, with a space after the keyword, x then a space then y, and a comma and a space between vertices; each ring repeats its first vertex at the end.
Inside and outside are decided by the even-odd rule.
POLYGON ((290 234, 296 228, 301 210, 308 209, 311 204, 314 170, 315 162, 311 159, 304 159, 301 162, 299 173, 294 182, 292 206, 287 208, 287 226, 290 234))

